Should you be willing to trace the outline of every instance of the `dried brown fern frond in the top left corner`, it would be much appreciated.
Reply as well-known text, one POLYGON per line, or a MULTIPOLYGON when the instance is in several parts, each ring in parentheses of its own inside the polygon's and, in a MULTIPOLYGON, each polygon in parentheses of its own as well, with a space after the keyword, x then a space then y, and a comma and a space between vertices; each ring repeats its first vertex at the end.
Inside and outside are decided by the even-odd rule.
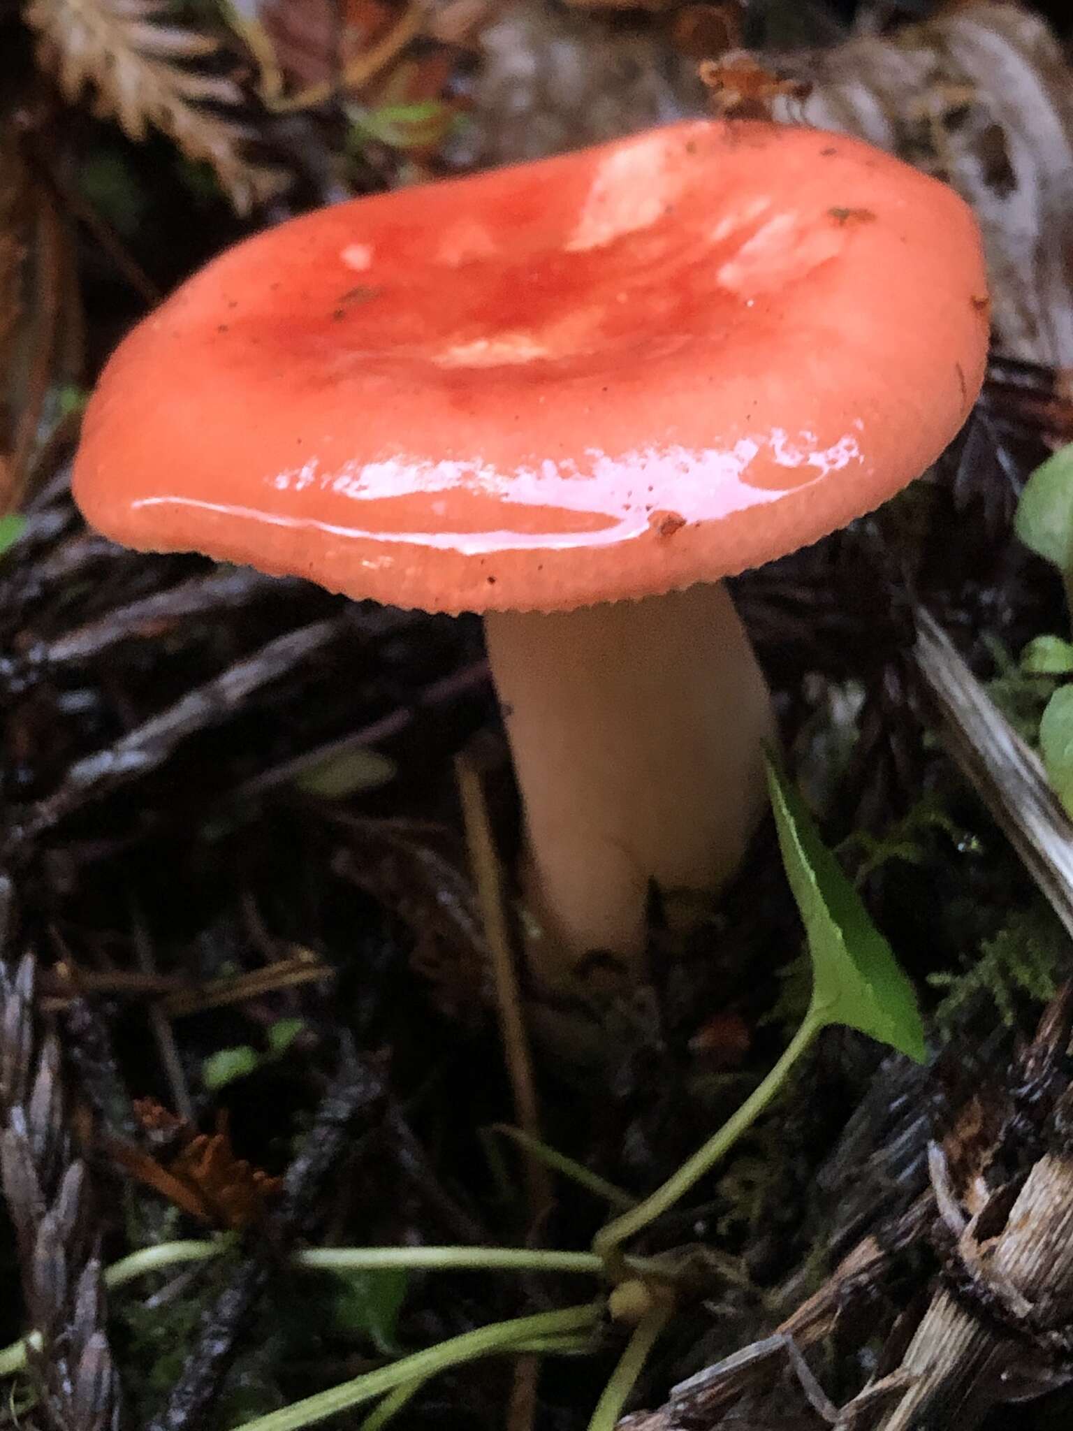
POLYGON ((92 89, 96 112, 130 139, 144 139, 150 124, 163 130, 189 159, 212 165, 245 213, 282 186, 282 173, 246 157, 246 126, 203 107, 243 97, 233 80, 192 63, 213 54, 217 41, 166 14, 163 0, 27 0, 24 10, 40 63, 69 100, 92 89))

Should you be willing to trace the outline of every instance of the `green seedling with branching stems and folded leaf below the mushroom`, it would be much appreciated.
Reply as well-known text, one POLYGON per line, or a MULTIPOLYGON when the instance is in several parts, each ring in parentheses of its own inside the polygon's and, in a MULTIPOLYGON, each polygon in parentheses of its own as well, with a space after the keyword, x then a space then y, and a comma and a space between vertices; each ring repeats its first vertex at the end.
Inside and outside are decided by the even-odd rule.
MULTIPOLYGON (((299 1254, 303 1265, 309 1268, 362 1274, 351 1275, 340 1284, 335 1315, 348 1329, 369 1335, 385 1355, 395 1351, 396 1322, 406 1292, 408 1266, 455 1271, 464 1266, 486 1271, 569 1269, 591 1276, 609 1274, 611 1281, 618 1284, 618 1291, 609 1298, 598 1296, 579 1305, 464 1332, 436 1347, 412 1352, 373 1371, 363 1371, 336 1387, 248 1421, 239 1431, 302 1431, 369 1401, 379 1401, 379 1405, 362 1424, 368 1431, 373 1428, 379 1431, 402 1410, 413 1391, 438 1372, 492 1354, 572 1355, 587 1351, 594 1331, 602 1324, 607 1312, 614 1314, 614 1304, 622 1301, 622 1285, 631 1284, 631 1292, 641 1294, 640 1319, 589 1421, 589 1431, 612 1431, 619 1422, 629 1390, 652 1344, 674 1311, 672 1295, 660 1291, 665 1285, 664 1281, 657 1279, 650 1286, 644 1262, 627 1259, 621 1251, 622 1242, 671 1208, 727 1153, 780 1092, 790 1069, 821 1029, 841 1023, 888 1043, 911 1059, 924 1058, 924 1030, 913 986, 898 967, 890 944, 873 924, 860 894, 820 839, 801 796, 787 784, 774 766, 768 767, 768 784, 783 863, 804 923, 813 967, 813 996, 785 1053, 734 1116, 668 1178, 662 1188, 609 1222, 597 1235, 592 1252, 529 1248, 326 1248, 299 1254), (391 1272, 395 1275, 389 1275, 391 1272)), ((299 1027, 299 1020, 280 1020, 275 1025, 269 1039, 272 1052, 260 1055, 260 1059, 283 1052, 299 1027)), ((229 1055, 240 1052, 223 1050, 229 1055)), ((258 1058, 253 1049, 249 1052, 258 1058)), ((242 1059, 237 1062, 242 1063, 242 1059)), ((594 1181, 585 1169, 579 1169, 569 1159, 561 1158, 551 1149, 541 1151, 545 1161, 558 1172, 578 1178, 591 1191, 608 1198, 612 1205, 621 1206, 628 1202, 618 1189, 594 1181)), ((150 1264, 152 1269, 159 1269, 166 1261, 176 1258, 200 1259, 215 1255, 222 1245, 197 1242, 175 1244, 170 1249, 156 1246, 149 1249, 149 1254, 144 1251, 133 1254, 126 1264, 133 1265, 132 1272, 140 1274, 149 1271, 150 1264)), ((119 1285, 119 1271, 116 1265, 106 1272, 109 1285, 119 1285)), ((665 1278, 665 1269, 661 1276, 665 1278)), ((638 1298, 634 1296, 634 1301, 638 1298)), ((21 1369, 27 1355, 26 1341, 0 1351, 0 1374, 21 1369)))

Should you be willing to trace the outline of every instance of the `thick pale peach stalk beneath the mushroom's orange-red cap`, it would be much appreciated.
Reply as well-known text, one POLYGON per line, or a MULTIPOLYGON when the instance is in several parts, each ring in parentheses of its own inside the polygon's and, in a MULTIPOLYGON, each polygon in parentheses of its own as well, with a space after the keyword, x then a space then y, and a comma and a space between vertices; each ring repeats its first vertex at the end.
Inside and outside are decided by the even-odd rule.
POLYGON ((641 973, 650 880, 714 890, 765 804, 771 703, 722 584, 564 612, 489 612, 525 806, 547 982, 589 949, 641 973))

